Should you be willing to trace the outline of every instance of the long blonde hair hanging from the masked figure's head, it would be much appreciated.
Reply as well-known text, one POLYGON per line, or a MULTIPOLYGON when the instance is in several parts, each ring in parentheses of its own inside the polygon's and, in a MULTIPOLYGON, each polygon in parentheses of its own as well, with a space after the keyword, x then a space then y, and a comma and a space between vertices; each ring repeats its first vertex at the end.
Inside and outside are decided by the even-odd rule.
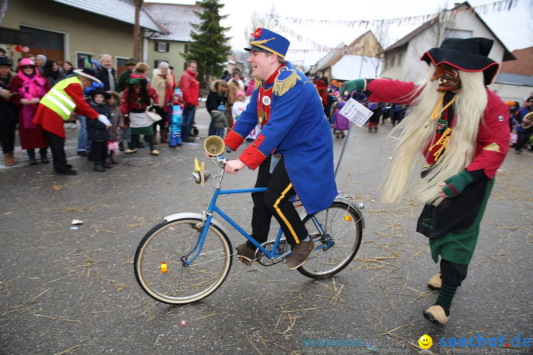
POLYGON ((396 141, 397 146, 381 184, 382 200, 386 203, 399 202, 409 193, 421 202, 438 205, 443 200, 438 197, 439 184, 458 174, 474 158, 479 124, 487 106, 487 90, 482 72, 459 71, 461 90, 453 104, 455 117, 450 140, 439 162, 433 164, 427 176, 420 177, 421 153, 428 153, 427 147, 435 138, 438 118, 427 127, 425 125, 442 95, 437 92, 438 80, 429 80, 434 71, 435 67, 431 65, 423 84, 411 95, 414 101, 406 118, 387 136, 387 139, 396 141))

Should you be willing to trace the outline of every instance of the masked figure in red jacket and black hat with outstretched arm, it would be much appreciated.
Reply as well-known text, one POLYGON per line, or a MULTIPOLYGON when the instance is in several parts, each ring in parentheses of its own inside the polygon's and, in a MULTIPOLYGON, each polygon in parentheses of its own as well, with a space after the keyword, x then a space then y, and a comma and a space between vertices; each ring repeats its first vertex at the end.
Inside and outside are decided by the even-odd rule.
POLYGON ((509 149, 507 105, 486 86, 498 71, 489 59, 493 41, 446 38, 421 57, 430 70, 422 82, 357 79, 340 90, 366 90, 369 100, 409 104, 391 132, 398 138, 383 177, 382 199, 399 202, 409 192, 425 203, 417 232, 429 238, 440 273, 429 286, 440 290, 423 315, 445 324, 478 241, 480 222, 496 170, 509 149), (416 169, 422 152, 426 166, 416 169))

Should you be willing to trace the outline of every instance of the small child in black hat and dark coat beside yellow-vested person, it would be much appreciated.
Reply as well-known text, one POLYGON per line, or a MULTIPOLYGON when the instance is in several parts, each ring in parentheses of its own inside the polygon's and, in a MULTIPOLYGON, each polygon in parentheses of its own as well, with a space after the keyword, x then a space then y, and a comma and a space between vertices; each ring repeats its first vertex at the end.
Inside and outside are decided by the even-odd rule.
POLYGON ((106 100, 111 97, 104 92, 102 88, 91 91, 93 101, 90 103, 91 108, 99 114, 107 117, 107 122, 100 122, 99 120, 86 120, 87 135, 91 142, 91 153, 89 153, 89 160, 94 163, 94 171, 106 171, 106 168, 112 168, 113 164, 107 162, 107 140, 108 129, 111 127, 111 112, 106 105, 106 100))

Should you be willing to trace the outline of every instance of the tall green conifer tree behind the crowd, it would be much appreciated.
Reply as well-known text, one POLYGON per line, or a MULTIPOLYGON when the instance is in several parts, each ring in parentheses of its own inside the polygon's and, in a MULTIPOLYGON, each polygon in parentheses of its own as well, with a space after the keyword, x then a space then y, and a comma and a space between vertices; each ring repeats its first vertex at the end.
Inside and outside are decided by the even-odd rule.
POLYGON ((231 47, 226 45, 230 37, 225 37, 224 32, 230 27, 220 26, 220 20, 228 15, 220 15, 219 11, 224 7, 219 0, 204 0, 196 2, 204 8, 203 12, 195 11, 201 24, 192 24, 195 29, 191 31, 192 42, 189 42, 189 52, 182 54, 185 61, 195 60, 198 64, 198 81, 201 86, 207 84, 211 78, 222 75, 224 63, 231 47))

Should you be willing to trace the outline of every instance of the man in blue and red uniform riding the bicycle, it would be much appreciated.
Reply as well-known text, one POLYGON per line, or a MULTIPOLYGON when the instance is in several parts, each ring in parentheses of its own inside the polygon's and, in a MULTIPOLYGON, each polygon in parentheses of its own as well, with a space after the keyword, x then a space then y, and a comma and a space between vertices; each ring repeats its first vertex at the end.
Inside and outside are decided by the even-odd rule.
MULTIPOLYGON (((245 166, 259 168, 255 187, 267 189, 252 194, 252 237, 266 242, 274 216, 291 245, 287 267, 292 270, 309 258, 314 243, 289 199, 297 193, 308 213, 333 203, 337 196, 333 140, 317 89, 285 61, 289 41, 264 28, 251 35, 254 39, 244 49, 250 52, 254 91, 224 143, 235 151, 258 122, 261 132, 238 160, 225 164, 225 170, 237 174, 245 166)), ((255 245, 247 242, 237 247, 237 257, 252 262, 255 251, 255 245)))

